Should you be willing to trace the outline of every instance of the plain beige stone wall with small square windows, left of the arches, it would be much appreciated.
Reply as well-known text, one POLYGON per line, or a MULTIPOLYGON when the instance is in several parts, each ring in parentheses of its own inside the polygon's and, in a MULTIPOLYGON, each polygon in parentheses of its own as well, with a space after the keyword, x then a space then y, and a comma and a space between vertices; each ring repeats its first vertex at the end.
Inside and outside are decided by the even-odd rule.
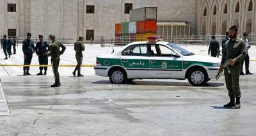
POLYGON ((115 36, 115 24, 129 21, 127 3, 133 9, 157 6, 158 21, 187 22, 195 29, 195 0, 1 0, 0 34, 15 30, 17 36, 30 32, 73 39, 93 31, 95 39, 115 36), (15 11, 8 4, 16 4, 15 11))

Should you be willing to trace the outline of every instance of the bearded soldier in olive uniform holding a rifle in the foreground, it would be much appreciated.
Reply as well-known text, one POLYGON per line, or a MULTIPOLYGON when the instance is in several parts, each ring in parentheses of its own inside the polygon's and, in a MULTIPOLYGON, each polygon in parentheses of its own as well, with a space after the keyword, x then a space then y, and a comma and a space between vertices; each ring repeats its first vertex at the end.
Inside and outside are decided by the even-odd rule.
POLYGON ((239 86, 239 77, 241 69, 241 61, 246 56, 246 48, 243 40, 237 38, 238 28, 237 26, 232 26, 229 29, 229 37, 225 43, 223 49, 223 56, 221 59, 221 66, 219 72, 223 72, 223 64, 228 59, 232 59, 229 63, 230 73, 228 73, 227 68, 225 68, 225 82, 228 89, 228 96, 230 97, 230 102, 224 105, 223 107, 235 107, 235 109, 240 109, 240 98, 241 91, 239 86), (235 103, 236 98, 236 103, 235 103))

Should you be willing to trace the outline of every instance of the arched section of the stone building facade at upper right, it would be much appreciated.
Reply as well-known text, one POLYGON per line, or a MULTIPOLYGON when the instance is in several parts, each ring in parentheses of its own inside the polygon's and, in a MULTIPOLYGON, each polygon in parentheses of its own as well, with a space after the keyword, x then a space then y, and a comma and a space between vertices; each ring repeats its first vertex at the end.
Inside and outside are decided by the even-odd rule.
POLYGON ((224 35, 230 26, 256 34, 256 0, 196 0, 196 32, 224 35))

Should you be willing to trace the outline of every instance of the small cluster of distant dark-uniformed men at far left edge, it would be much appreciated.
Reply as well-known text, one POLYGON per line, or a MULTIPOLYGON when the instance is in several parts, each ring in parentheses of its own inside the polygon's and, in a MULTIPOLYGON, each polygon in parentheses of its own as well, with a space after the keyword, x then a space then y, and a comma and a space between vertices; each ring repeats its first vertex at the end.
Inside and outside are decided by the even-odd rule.
POLYGON ((16 54, 16 39, 11 38, 10 36, 4 35, 1 36, 1 49, 4 50, 5 58, 8 59, 8 56, 11 57, 12 54, 16 54), (12 47, 13 47, 13 53, 12 53, 12 47))

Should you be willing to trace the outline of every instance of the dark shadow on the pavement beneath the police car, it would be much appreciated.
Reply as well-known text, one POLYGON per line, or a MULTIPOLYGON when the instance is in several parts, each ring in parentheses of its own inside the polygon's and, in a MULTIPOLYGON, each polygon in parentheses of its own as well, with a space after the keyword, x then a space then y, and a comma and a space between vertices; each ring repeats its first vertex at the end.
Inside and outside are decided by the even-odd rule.
MULTIPOLYGON (((92 84, 111 84, 109 80, 99 80, 92 82, 92 84)), ((161 82, 161 81, 143 81, 143 80, 134 80, 127 83, 128 85, 144 85, 144 86, 191 86, 189 82, 161 82)), ((209 82, 204 86, 200 87, 220 87, 224 86, 223 83, 209 82)))

